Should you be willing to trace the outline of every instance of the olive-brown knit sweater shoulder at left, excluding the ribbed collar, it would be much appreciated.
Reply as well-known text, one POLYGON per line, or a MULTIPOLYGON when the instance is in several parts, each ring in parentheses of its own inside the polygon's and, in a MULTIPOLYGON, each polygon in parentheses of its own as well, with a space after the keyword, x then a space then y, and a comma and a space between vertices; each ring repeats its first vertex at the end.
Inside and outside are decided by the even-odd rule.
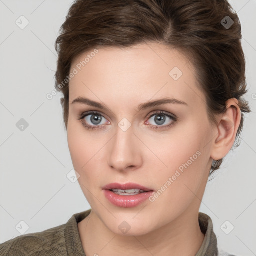
POLYGON ((0 256, 65 255, 65 224, 17 236, 0 244, 0 256))

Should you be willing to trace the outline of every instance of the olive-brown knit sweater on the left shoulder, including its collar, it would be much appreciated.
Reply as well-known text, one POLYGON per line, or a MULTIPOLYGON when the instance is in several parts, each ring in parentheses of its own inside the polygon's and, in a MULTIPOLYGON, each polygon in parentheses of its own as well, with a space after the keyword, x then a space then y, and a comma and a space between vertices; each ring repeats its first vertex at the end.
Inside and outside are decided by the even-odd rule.
POLYGON ((0 256, 85 256, 77 223, 90 211, 73 214, 65 224, 5 241, 0 244, 0 256))

